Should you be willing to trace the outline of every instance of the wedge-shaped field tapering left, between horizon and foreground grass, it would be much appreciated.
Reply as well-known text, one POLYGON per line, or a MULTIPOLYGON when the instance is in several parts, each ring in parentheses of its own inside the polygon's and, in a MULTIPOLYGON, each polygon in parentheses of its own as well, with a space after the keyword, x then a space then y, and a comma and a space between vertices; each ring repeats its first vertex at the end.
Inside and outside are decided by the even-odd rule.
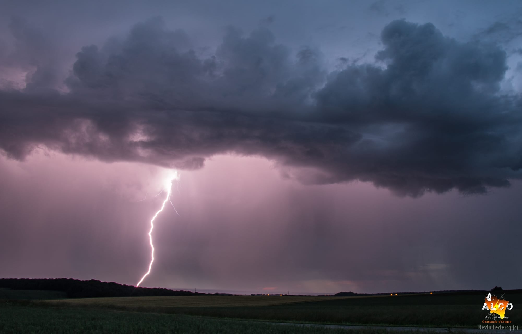
MULTIPOLYGON (((522 319, 516 305, 522 293, 507 293, 515 307, 509 318, 522 319)), ((484 293, 414 294, 373 297, 179 296, 117 297, 50 301, 74 307, 265 321, 344 325, 468 327, 481 324, 484 293)), ((518 303, 519 304, 519 303, 518 303)))

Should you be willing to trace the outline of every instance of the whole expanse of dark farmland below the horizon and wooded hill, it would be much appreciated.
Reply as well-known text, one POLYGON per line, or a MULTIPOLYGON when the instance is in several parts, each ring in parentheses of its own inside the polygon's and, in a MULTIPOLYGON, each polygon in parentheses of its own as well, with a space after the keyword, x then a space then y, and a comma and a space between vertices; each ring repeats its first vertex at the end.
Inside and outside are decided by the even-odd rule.
MULTIPOLYGON (((350 297, 180 295, 79 299, 64 298, 63 292, 56 291, 3 289, 3 292, 10 301, 0 300, 2 333, 60 332, 57 328, 64 333, 75 332, 75 328, 76 332, 116 333, 343 332, 339 328, 303 328, 268 322, 476 328, 487 314, 481 309, 483 291, 350 297), (42 300, 45 298, 48 300, 42 300), (37 327, 42 330, 35 330, 37 327)), ((522 308, 518 307, 522 291, 503 293, 515 305, 506 315, 513 325, 518 325, 522 319, 522 308)))

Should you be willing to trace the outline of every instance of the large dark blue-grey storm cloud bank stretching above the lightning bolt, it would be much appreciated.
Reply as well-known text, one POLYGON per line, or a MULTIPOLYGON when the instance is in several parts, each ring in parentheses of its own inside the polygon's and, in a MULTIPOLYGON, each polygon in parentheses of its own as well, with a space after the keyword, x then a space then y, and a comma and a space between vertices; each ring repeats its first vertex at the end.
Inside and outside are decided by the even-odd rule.
POLYGON ((362 180, 409 196, 520 177, 521 103, 500 91, 499 46, 404 20, 381 41, 375 64, 327 74, 321 52, 294 52, 264 28, 228 28, 201 58, 186 33, 151 19, 83 47, 66 94, 42 93, 49 81, 34 75, 25 91, 0 92, 0 147, 16 159, 44 145, 182 169, 255 154, 306 183, 362 180))

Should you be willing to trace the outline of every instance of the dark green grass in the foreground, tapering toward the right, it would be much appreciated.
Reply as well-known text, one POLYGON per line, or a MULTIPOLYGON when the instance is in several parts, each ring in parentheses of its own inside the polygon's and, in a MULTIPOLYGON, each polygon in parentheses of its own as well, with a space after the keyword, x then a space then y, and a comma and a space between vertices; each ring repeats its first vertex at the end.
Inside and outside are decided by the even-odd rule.
MULTIPOLYGON (((394 331, 286 326, 185 315, 0 302, 0 333, 371 334, 394 331)), ((398 332, 397 332, 398 333, 398 332)), ((413 332, 415 333, 415 332, 413 332)), ((423 332, 426 333, 426 332, 423 332)))

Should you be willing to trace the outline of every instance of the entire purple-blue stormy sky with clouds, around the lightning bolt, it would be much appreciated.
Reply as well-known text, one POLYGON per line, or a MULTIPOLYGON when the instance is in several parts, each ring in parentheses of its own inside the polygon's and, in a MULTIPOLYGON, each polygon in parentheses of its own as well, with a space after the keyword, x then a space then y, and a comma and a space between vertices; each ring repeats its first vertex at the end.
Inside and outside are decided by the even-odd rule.
POLYGON ((519 2, 0 9, 0 277, 520 288, 519 2))

